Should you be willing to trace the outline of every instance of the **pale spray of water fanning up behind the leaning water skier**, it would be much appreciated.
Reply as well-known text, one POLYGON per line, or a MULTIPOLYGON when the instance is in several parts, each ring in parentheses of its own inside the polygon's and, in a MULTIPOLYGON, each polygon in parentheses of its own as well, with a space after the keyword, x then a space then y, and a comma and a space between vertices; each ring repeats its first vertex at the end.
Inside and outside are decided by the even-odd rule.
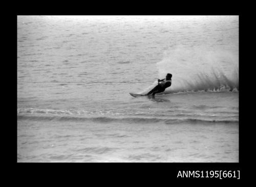
MULTIPOLYGON (((239 91, 238 54, 230 50, 207 50, 203 47, 176 49, 164 52, 156 64, 159 78, 172 73, 172 86, 166 93, 188 91, 239 91)), ((155 81, 143 90, 144 94, 157 85, 155 81)))

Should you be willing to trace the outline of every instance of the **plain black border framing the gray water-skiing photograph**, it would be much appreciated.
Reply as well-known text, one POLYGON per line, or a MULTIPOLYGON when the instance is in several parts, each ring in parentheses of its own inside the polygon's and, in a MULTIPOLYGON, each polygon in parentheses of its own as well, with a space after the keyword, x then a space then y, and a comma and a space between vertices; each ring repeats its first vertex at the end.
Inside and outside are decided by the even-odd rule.
MULTIPOLYGON (((4 99, 7 101, 7 109, 4 114, 8 113, 9 116, 11 113, 11 116, 7 117, 7 122, 2 124, 11 127, 10 135, 4 138, 5 141, 3 142, 7 149, 2 149, 2 155, 8 153, 5 155, 5 159, 2 159, 7 167, 2 168, 2 170, 8 176, 9 184, 32 184, 33 186, 52 184, 166 186, 167 184, 171 186, 180 185, 174 183, 174 180, 182 180, 177 178, 178 172, 182 170, 240 170, 241 179, 233 179, 235 182, 248 179, 253 174, 250 171, 253 169, 253 159, 250 159, 248 155, 253 154, 255 146, 248 140, 249 135, 247 133, 251 131, 250 128, 253 125, 252 122, 248 122, 247 117, 248 115, 253 116, 253 114, 249 114, 251 109, 247 108, 247 104, 251 104, 251 102, 247 102, 245 98, 248 97, 250 91, 248 84, 252 84, 251 81, 248 83, 247 75, 253 75, 246 69, 248 63, 252 64, 253 61, 253 59, 247 60, 247 43, 250 41, 247 35, 248 20, 246 14, 248 9, 242 9, 242 5, 230 6, 236 4, 235 2, 225 5, 223 2, 201 2, 198 4, 180 2, 181 4, 177 5, 173 2, 153 1, 140 4, 121 1, 115 3, 94 2, 95 5, 88 2, 65 1, 54 4, 46 1, 9 3, 8 6, 2 6, 2 9, 6 11, 2 15, 2 19, 4 19, 2 30, 6 32, 6 35, 2 34, 2 37, 7 40, 4 50, 8 52, 8 60, 3 60, 2 64, 11 66, 10 69, 2 69, 2 72, 6 74, 4 75, 5 78, 2 78, 3 83, 5 83, 2 86, 4 90, 7 90, 6 96, 11 96, 9 99, 4 99), (242 12, 242 10, 245 11, 242 12), (17 163, 17 15, 239 15, 239 163, 17 163), (247 148, 248 146, 249 148, 247 148)), ((3 131, 2 133, 5 134, 3 131)), ((194 179, 209 182, 212 178, 194 179)))

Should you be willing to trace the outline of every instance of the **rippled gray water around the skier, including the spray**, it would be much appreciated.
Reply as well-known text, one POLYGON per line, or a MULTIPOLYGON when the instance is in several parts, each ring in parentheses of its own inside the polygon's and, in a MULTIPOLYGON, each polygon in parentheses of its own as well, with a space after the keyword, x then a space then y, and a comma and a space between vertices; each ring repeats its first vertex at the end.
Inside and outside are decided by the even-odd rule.
POLYGON ((17 162, 238 162, 238 22, 18 16, 17 162))

